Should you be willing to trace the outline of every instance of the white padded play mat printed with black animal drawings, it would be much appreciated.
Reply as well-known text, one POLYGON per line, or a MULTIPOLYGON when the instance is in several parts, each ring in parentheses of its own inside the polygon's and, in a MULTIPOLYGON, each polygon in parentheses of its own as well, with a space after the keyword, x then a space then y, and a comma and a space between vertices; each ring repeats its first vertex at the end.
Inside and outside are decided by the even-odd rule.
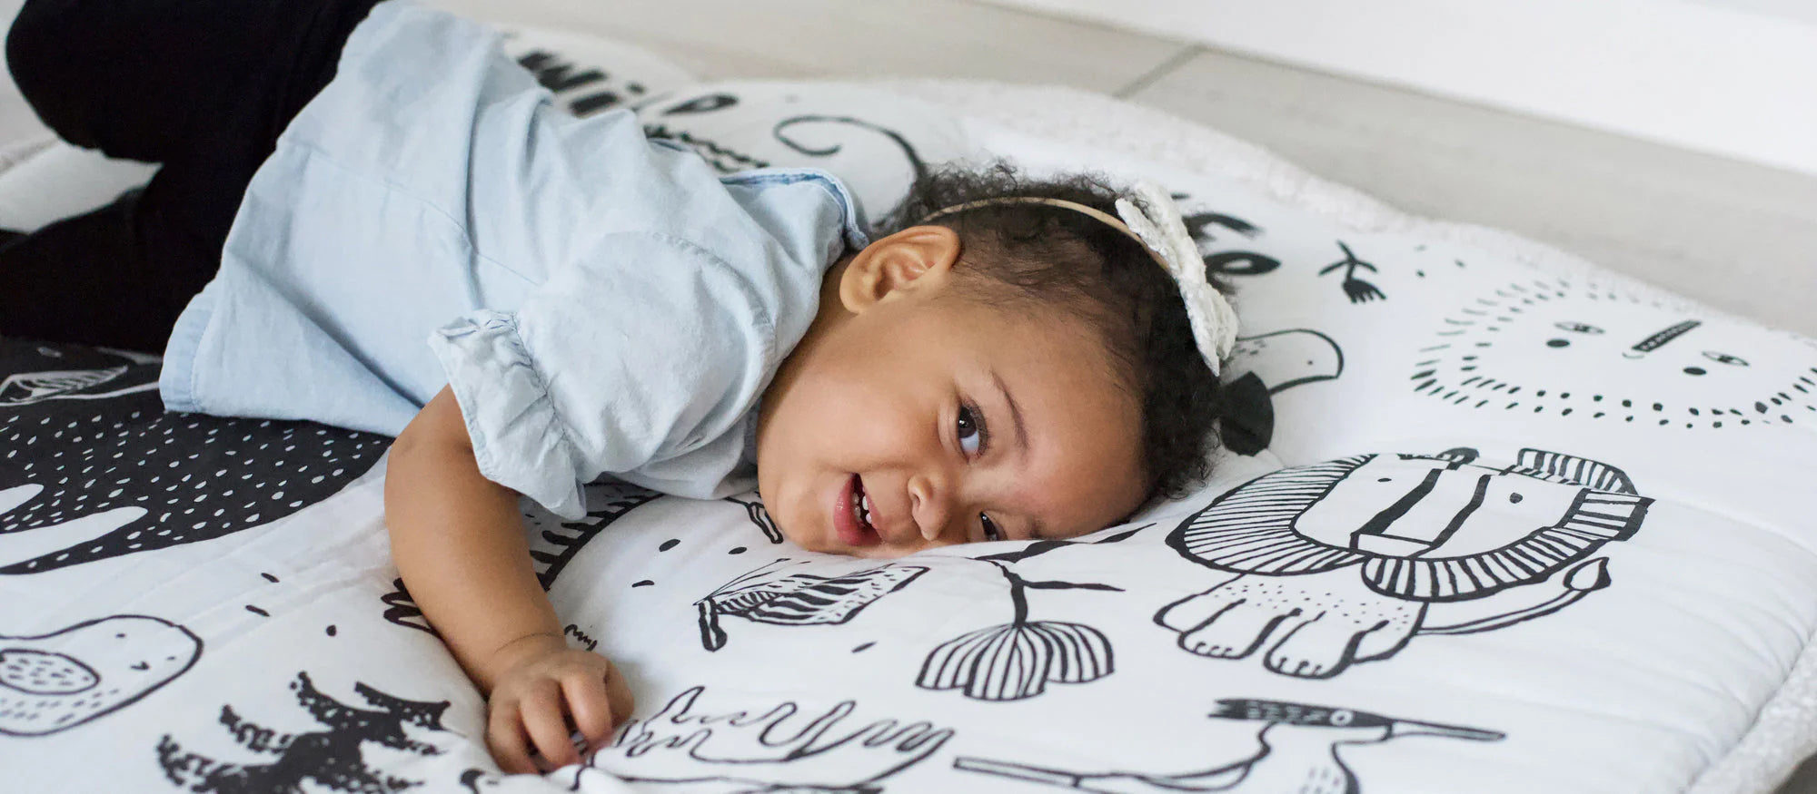
MULTIPOLYGON (((164 413, 154 357, 0 339, 4 789, 1766 792, 1817 749, 1810 339, 1101 96, 507 49, 578 114, 832 170, 872 214, 952 160, 1156 179, 1272 422, 1130 524, 883 564, 792 547, 754 495, 527 508, 638 711, 505 776, 387 558, 389 439, 164 413)), ((24 160, 0 208, 53 183, 109 185, 24 160)))

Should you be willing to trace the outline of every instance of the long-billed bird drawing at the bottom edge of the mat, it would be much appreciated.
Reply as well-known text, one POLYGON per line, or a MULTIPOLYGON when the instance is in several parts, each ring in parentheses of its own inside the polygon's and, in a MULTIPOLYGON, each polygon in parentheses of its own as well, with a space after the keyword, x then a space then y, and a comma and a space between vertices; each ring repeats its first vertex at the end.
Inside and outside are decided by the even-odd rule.
POLYGON ((1354 709, 1286 703, 1276 700, 1219 700, 1208 716, 1265 723, 1256 734, 1261 747, 1248 758, 1203 772, 1070 772, 1025 763, 958 758, 954 769, 996 774, 1061 789, 1101 794, 1179 794, 1179 792, 1361 792, 1355 772, 1345 765, 1339 749, 1374 745, 1395 736, 1446 736, 1454 740, 1499 741, 1506 734, 1417 720, 1399 720, 1354 709))

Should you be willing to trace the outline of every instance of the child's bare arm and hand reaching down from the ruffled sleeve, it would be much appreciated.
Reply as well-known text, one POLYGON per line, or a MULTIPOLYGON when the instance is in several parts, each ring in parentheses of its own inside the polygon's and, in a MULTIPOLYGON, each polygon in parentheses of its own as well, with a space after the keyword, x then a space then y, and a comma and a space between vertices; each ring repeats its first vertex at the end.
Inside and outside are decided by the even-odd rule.
POLYGON ((534 772, 529 747, 578 761, 630 714, 630 689, 600 654, 569 649, 531 567, 518 491, 485 479, 454 393, 443 388, 391 446, 391 555, 411 598, 487 700, 487 743, 509 772, 534 772), (529 738, 529 743, 525 741, 529 738))

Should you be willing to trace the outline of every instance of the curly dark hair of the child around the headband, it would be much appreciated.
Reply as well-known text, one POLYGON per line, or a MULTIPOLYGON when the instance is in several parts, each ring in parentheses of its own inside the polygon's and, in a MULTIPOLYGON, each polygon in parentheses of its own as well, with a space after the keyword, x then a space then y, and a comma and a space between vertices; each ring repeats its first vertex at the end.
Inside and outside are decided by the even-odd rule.
MULTIPOLYGON (((1116 216, 1119 192, 1096 174, 1034 179, 1003 161, 943 169, 916 179, 872 232, 883 237, 941 208, 1005 196, 1065 199, 1116 216)), ((1141 402, 1145 504, 1183 497, 1210 475, 1223 392, 1194 343, 1179 286, 1145 245, 1085 212, 1041 203, 983 205, 927 225, 959 234, 954 274, 972 277, 974 297, 1059 308, 1105 341, 1121 384, 1141 402)))

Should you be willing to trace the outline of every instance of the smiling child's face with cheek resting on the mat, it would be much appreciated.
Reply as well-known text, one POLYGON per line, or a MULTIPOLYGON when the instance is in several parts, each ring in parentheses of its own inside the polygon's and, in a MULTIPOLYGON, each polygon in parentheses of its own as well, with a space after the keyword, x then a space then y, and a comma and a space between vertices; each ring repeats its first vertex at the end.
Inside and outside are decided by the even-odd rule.
POLYGON ((823 299, 765 392, 758 489, 792 542, 856 557, 1103 529, 1145 495, 1139 412, 1110 372, 1077 319, 950 281, 856 314, 823 299))

